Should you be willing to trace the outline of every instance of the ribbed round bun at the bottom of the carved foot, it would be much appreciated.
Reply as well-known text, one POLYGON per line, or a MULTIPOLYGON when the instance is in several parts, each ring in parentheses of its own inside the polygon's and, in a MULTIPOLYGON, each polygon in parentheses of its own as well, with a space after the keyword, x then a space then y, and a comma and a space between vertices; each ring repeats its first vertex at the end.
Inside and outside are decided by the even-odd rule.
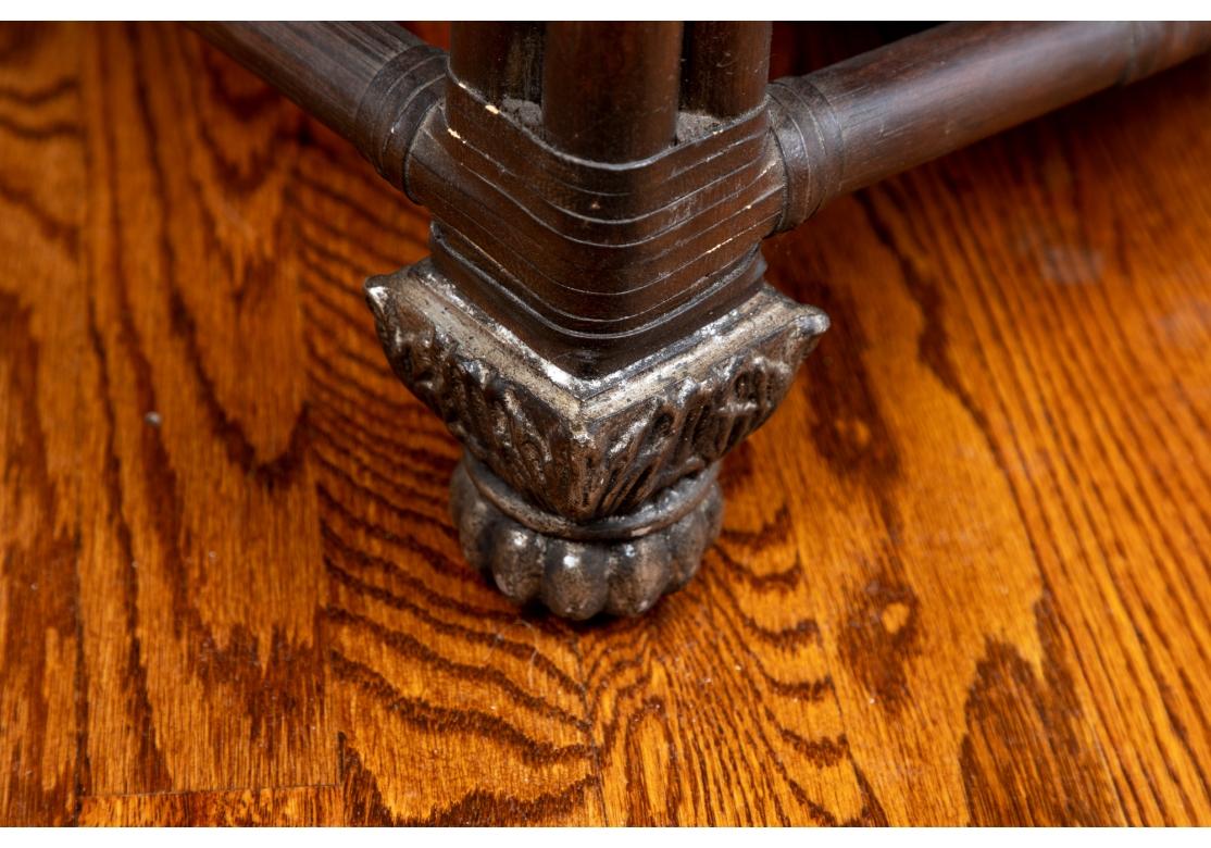
POLYGON ((716 468, 687 477, 630 515, 575 523, 535 509, 464 457, 450 481, 463 554, 507 597, 558 615, 638 615, 684 586, 719 533, 716 468))

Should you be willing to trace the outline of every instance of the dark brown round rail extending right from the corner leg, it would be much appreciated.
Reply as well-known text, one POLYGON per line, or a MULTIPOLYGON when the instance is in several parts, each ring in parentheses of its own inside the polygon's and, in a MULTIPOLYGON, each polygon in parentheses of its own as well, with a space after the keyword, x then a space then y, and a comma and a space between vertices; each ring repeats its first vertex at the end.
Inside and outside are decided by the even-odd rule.
POLYGON ((1211 50, 1211 23, 951 23, 770 84, 790 229, 831 199, 1211 50))

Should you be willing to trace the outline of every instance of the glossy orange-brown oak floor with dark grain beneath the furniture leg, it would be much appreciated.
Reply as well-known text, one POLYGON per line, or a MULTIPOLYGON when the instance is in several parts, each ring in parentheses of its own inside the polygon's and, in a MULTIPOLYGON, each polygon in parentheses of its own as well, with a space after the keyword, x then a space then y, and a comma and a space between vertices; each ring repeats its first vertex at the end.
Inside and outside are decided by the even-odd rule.
POLYGON ((184 29, 0 28, 0 823, 1211 824, 1209 115, 770 242, 833 330, 695 581, 569 625, 362 303, 425 213, 184 29))

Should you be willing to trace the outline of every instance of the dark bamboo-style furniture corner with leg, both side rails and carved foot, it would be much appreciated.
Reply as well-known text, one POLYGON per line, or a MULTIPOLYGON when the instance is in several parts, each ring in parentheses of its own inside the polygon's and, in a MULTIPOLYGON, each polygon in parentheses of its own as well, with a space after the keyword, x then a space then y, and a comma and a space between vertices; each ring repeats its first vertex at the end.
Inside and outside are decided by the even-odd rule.
POLYGON ((827 328, 763 282, 762 239, 1211 47, 1207 24, 949 24, 767 87, 767 24, 458 24, 448 68, 381 24, 203 29, 431 210, 431 258, 367 281, 383 346, 466 446, 467 558, 572 618, 694 574, 719 460, 827 328))

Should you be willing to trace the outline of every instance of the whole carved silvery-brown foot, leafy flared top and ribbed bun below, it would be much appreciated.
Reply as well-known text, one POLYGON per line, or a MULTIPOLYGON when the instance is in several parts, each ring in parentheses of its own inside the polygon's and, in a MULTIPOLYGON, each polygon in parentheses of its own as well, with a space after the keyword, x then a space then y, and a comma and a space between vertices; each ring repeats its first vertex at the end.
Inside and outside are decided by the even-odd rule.
POLYGON ((828 327, 763 286, 597 378, 539 355, 429 260, 371 277, 395 373, 466 447, 453 508, 505 595, 568 618, 632 615, 698 571, 723 508, 718 462, 761 426, 828 327))

